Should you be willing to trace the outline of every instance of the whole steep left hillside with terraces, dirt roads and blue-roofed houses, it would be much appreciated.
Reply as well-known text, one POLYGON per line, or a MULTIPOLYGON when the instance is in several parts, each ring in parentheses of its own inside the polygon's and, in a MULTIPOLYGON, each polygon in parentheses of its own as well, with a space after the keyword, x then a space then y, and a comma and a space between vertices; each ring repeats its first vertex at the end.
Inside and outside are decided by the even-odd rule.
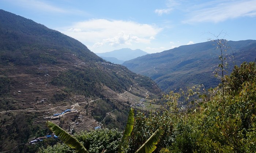
POLYGON ((29 152, 28 141, 48 133, 47 120, 68 132, 123 129, 130 105, 159 95, 151 79, 106 62, 69 36, 0 10, 0 151, 17 144, 12 152, 29 152))

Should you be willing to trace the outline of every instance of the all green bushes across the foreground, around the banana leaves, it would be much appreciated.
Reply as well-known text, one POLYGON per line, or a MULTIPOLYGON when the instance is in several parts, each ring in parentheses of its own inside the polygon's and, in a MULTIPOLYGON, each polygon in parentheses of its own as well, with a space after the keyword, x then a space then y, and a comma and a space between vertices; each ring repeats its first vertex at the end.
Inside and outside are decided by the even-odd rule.
MULTIPOLYGON (((154 152, 255 152, 255 63, 235 66, 233 72, 223 79, 222 85, 215 89, 193 87, 180 93, 172 91, 164 96, 167 102, 158 111, 138 112, 127 152, 136 151, 160 126, 164 134, 154 152), (185 99, 187 107, 179 104, 180 97, 185 99)), ((104 148, 117 152, 121 136, 117 130, 101 129, 80 133, 76 137, 85 146, 90 145, 86 146, 91 147, 89 152, 101 152, 104 148)), ((62 145, 47 149, 54 147, 68 152, 62 145)))

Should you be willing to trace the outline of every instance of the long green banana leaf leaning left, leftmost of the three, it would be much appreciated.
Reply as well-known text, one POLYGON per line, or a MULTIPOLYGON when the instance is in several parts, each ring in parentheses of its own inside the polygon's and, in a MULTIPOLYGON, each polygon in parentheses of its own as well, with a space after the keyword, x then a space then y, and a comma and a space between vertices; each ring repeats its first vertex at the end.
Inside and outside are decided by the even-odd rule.
POLYGON ((86 148, 84 148, 83 144, 81 144, 78 140, 76 140, 76 138, 72 137, 70 134, 65 132, 65 130, 61 129, 53 122, 47 121, 46 126, 49 127, 49 129, 52 130, 56 136, 59 136, 60 140, 70 148, 76 149, 78 153, 89 153, 86 148))

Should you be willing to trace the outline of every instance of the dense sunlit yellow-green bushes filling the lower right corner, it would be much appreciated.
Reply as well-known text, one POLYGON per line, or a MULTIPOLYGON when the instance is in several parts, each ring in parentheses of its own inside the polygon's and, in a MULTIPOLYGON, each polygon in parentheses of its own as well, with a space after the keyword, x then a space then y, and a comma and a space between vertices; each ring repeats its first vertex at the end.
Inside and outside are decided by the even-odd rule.
POLYGON ((236 66, 230 76, 224 77, 225 95, 222 89, 213 89, 208 93, 210 97, 199 99, 199 111, 180 113, 181 118, 188 120, 178 122, 181 124, 174 129, 176 136, 170 149, 173 152, 254 152, 255 68, 254 63, 236 66))

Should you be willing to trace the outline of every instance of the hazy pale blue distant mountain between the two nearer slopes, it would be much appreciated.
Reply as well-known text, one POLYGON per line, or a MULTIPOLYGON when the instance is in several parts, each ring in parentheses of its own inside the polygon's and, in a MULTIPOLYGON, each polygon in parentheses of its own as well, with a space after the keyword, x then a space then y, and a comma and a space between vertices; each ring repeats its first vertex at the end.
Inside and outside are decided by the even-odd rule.
MULTIPOLYGON (((119 50, 114 50, 114 51, 104 52, 104 53, 95 53, 95 54, 100 57, 103 57, 103 59, 105 60, 107 60, 107 58, 117 58, 118 60, 126 61, 126 60, 137 58, 139 56, 147 55, 148 53, 140 49, 131 50, 130 48, 122 48, 119 50)), ((110 61, 111 59, 108 59, 108 60, 110 61)))

